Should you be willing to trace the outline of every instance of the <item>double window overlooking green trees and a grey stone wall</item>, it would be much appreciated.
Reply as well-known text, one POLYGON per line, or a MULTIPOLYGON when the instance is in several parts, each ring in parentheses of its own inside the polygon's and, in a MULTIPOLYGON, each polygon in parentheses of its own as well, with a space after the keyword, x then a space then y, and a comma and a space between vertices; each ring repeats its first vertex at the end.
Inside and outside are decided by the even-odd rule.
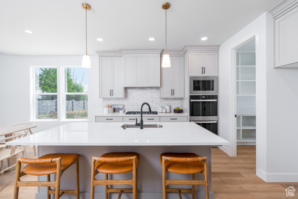
POLYGON ((32 67, 31 120, 88 119, 87 69, 32 67))

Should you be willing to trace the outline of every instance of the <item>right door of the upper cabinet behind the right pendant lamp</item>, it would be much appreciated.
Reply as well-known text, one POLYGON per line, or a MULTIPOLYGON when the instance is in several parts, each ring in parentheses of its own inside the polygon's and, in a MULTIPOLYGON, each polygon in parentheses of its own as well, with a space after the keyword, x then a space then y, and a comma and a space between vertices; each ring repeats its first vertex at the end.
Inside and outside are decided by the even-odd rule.
POLYGON ((172 57, 173 97, 184 98, 184 56, 172 57))

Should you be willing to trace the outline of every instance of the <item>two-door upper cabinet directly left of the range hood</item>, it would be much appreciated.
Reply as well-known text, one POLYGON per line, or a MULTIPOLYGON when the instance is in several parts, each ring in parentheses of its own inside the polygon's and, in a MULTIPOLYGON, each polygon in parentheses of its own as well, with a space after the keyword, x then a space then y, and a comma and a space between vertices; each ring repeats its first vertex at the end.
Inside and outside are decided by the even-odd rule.
POLYGON ((124 98, 122 57, 100 57, 100 98, 124 98))

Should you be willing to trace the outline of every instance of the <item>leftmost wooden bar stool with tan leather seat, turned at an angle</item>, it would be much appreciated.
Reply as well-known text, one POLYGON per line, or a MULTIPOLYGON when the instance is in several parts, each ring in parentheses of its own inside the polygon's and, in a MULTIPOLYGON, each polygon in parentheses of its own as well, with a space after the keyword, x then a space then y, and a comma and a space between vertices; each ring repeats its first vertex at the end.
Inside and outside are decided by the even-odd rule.
POLYGON ((77 199, 80 198, 79 187, 79 154, 75 153, 52 153, 43 155, 37 159, 17 158, 17 167, 15 171, 15 189, 13 198, 18 199, 18 191, 20 186, 46 186, 47 198, 50 194, 55 194, 55 199, 60 198, 63 194, 75 194, 77 199), (27 164, 21 172, 21 163, 27 164), (63 172, 71 165, 76 164, 76 189, 60 190, 60 178, 63 172), (57 173, 56 181, 50 181, 50 174, 57 173), (20 177, 29 175, 47 175, 46 182, 37 181, 21 181, 20 177), (51 189, 50 187, 55 187, 51 189))

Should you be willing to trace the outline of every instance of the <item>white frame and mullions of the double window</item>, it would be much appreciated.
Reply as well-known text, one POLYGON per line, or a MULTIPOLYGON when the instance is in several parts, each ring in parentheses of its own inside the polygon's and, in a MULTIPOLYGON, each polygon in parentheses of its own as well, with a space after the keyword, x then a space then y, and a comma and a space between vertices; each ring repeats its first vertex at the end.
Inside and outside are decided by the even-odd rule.
POLYGON ((79 68, 81 66, 30 66, 30 120, 31 121, 89 121, 88 119, 66 119, 66 95, 87 95, 88 92, 68 93, 65 91, 65 68, 79 68), (57 68, 57 93, 37 93, 35 90, 35 69, 57 68), (57 95, 57 119, 36 118, 36 95, 57 95))

